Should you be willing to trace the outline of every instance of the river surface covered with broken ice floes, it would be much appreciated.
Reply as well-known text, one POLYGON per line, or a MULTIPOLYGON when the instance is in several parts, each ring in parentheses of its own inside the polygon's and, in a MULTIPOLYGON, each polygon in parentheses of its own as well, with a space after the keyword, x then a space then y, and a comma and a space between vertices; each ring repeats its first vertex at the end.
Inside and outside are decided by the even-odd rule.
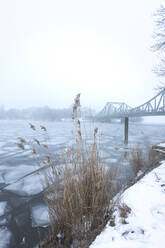
MULTIPOLYGON (((29 121, 30 122, 30 121, 29 121)), ((20 150, 18 137, 30 141, 38 138, 49 145, 51 153, 72 145, 72 122, 34 122, 37 131, 29 128, 28 121, 0 121, 0 248, 33 248, 48 233, 49 217, 43 200, 39 169, 31 150, 20 150), (47 128, 45 133, 40 125, 47 128)), ((99 128, 100 155, 106 166, 121 166, 121 180, 131 175, 123 145, 124 125, 120 123, 85 123, 87 133, 99 128), (89 132, 88 132, 89 131, 89 132)), ((89 135, 87 139, 90 140, 89 135)), ((129 125, 130 147, 165 141, 165 126, 134 123, 129 125)))

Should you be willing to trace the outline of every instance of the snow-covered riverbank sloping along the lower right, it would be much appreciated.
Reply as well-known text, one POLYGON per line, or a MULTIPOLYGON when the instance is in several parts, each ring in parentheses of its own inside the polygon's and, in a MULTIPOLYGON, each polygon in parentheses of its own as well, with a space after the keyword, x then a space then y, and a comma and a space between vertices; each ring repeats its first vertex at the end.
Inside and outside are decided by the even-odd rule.
POLYGON ((165 247, 165 161, 121 195, 112 220, 90 248, 165 247))

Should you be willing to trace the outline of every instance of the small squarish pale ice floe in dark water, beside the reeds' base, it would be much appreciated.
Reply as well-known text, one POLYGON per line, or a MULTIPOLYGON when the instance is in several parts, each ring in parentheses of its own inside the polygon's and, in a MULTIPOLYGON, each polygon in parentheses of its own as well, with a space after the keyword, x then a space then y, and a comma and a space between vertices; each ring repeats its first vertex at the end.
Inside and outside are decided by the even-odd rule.
POLYGON ((48 208, 45 205, 36 205, 32 207, 33 226, 48 226, 49 222, 48 208))

